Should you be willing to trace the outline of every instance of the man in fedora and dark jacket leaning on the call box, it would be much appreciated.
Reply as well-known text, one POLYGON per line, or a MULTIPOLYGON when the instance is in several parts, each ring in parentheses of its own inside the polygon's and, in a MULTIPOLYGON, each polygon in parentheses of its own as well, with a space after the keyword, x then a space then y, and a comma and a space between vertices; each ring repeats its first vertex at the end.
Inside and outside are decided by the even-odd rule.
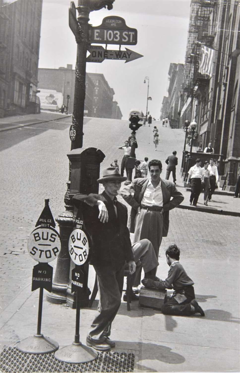
POLYGON ((108 167, 97 180, 103 184, 102 194, 73 197, 73 204, 82 209, 86 230, 92 239, 90 264, 96 271, 99 291, 99 313, 93 320, 86 344, 100 351, 115 347, 109 336, 121 304, 125 261, 131 274, 136 269, 127 228, 127 207, 116 198, 121 182, 126 179, 118 168, 108 167))

